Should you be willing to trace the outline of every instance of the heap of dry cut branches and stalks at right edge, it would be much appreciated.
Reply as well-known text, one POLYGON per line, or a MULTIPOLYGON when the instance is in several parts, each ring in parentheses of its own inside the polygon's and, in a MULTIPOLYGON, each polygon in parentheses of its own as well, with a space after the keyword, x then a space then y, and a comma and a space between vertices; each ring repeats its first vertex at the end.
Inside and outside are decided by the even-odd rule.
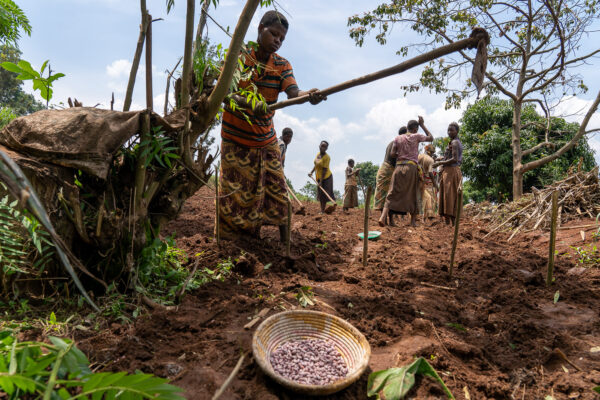
MULTIPOLYGON (((487 222, 491 230, 484 239, 494 232, 512 230, 512 239, 517 232, 531 232, 535 229, 550 230, 552 214, 552 193, 558 192, 559 229, 568 221, 595 216, 600 213, 600 182, 598 167, 591 171, 578 171, 568 177, 546 186, 532 188, 532 192, 517 201, 500 205, 481 203, 465 208, 465 212, 477 220, 487 222)), ((592 225, 594 226, 594 225, 592 225)), ((509 239, 509 240, 510 240, 509 239)))

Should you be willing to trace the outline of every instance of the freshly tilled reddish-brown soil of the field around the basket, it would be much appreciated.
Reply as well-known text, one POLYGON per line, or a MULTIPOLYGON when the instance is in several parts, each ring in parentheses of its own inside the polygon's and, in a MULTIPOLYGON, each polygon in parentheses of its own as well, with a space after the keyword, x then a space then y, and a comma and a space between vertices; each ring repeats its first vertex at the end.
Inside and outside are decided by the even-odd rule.
MULTIPOLYGON (((439 222, 383 228, 370 242, 362 266, 362 210, 294 215, 293 260, 282 257, 278 231, 262 239, 213 240, 214 205, 207 190, 186 203, 166 227, 201 266, 238 259, 235 277, 187 295, 176 311, 155 311, 134 324, 81 333, 79 346, 107 370, 137 369, 172 379, 189 399, 210 399, 236 364, 250 355, 224 399, 301 399, 270 381, 251 357, 252 330, 243 326, 261 309, 272 315, 299 307, 295 294, 311 286, 313 309, 345 318, 369 340, 367 373, 327 399, 364 399, 368 373, 423 356, 457 399, 593 399, 600 384, 600 268, 578 268, 558 257, 555 283, 546 288, 547 233, 498 233, 483 239, 484 226, 461 226, 454 276, 448 264, 452 228, 439 222), (241 254, 245 255, 242 257, 241 254), (269 266, 265 269, 265 266, 269 266), (553 302, 556 291, 560 299, 553 302), (560 349, 581 371, 559 358, 560 349)), ((370 220, 377 229, 376 217, 370 220)), ((590 221, 572 221, 584 225, 590 221)), ((559 232, 558 250, 581 246, 576 230, 559 232)), ((586 243, 591 240, 587 229, 586 243)), ((258 324, 255 325, 255 327, 258 324)), ((430 378, 418 380, 412 398, 444 398, 430 378)))

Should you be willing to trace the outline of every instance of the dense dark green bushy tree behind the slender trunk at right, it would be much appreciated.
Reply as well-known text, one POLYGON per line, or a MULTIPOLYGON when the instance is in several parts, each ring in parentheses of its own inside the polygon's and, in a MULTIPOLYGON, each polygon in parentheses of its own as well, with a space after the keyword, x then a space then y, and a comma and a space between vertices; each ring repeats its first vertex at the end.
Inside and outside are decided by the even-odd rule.
MULTIPOLYGON (((513 103, 495 97, 485 97, 469 106, 462 117, 460 139, 464 146, 462 171, 468 179, 465 194, 473 201, 491 200, 502 202, 512 198, 512 150, 511 130, 513 103)), ((546 118, 535 107, 523 108, 521 143, 531 149, 545 143, 546 118)), ((555 146, 562 146, 573 138, 579 124, 562 118, 551 118, 549 139, 555 146)), ((553 146, 542 146, 535 155, 528 154, 524 162, 533 157, 544 157, 554 152, 553 146)), ((581 163, 583 169, 595 166, 594 151, 586 137, 556 160, 524 175, 525 191, 532 186, 541 188, 562 179, 569 167, 581 163)))

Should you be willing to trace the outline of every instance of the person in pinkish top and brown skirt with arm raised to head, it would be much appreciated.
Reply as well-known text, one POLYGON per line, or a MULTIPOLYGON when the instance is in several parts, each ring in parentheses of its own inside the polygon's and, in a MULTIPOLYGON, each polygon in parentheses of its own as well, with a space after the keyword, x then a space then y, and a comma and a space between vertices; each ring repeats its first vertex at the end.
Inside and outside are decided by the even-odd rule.
POLYGON ((379 218, 379 225, 385 226, 389 213, 410 214, 410 225, 417 226, 417 196, 421 172, 419 169, 419 143, 432 142, 433 136, 425 127, 423 117, 419 122, 408 121, 408 133, 399 135, 394 140, 392 154, 396 155, 396 169, 392 175, 390 190, 387 194, 383 212, 379 218), (417 133, 419 126, 427 135, 417 133))

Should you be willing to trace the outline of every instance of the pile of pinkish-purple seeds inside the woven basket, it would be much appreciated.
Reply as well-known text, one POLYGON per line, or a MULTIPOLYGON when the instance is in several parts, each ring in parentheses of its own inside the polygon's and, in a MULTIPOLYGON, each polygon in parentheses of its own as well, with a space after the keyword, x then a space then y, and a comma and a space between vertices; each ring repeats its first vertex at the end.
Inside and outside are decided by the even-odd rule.
POLYGON ((305 339, 287 342, 271 353, 271 365, 284 378, 308 385, 327 385, 348 374, 333 342, 305 339))

